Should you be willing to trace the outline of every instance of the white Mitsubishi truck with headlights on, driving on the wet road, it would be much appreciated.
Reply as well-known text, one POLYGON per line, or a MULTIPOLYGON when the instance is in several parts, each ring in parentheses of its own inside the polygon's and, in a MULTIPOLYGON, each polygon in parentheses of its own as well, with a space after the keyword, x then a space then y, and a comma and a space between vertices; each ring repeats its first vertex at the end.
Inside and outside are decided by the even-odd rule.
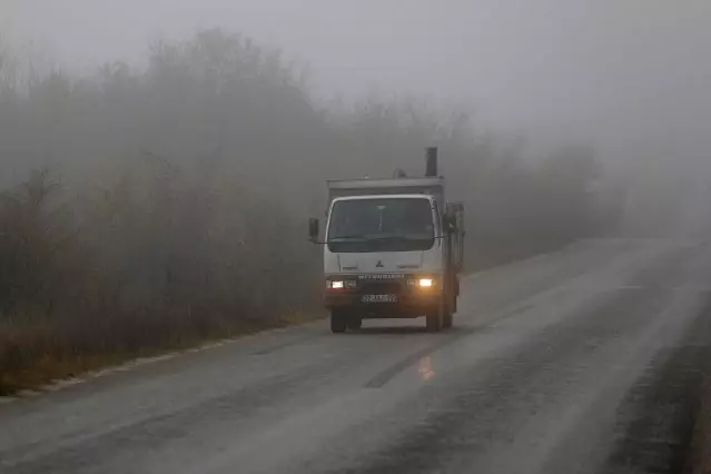
POLYGON ((437 149, 424 177, 328 181, 324 303, 330 329, 359 329, 364 318, 426 317, 428 330, 452 326, 464 257, 464 208, 445 200, 437 149))

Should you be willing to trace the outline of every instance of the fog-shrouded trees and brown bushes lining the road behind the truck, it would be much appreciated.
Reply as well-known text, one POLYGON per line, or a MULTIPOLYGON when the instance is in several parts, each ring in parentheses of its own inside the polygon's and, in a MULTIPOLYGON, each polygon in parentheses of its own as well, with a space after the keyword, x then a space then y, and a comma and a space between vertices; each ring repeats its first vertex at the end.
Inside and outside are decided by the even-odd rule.
POLYGON ((428 145, 465 203, 472 270, 616 225, 591 148, 525 156, 412 98, 325 106, 240 36, 85 77, 0 50, 0 394, 319 315, 305 221, 324 180, 421 172, 428 145))

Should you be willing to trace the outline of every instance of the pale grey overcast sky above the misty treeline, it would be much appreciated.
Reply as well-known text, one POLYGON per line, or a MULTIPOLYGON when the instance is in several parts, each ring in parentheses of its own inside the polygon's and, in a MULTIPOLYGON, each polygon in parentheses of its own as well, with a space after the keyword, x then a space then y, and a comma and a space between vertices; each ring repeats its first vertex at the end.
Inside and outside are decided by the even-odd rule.
POLYGON ((308 62, 327 96, 411 92, 608 155, 711 161, 711 0, 0 0, 8 36, 79 68, 214 26, 308 62))

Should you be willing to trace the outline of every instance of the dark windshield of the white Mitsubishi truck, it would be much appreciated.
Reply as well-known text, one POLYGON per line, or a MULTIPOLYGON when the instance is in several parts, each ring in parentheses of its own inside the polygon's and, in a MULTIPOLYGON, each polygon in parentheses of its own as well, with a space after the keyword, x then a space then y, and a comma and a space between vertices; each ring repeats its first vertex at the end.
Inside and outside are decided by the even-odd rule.
POLYGON ((328 225, 330 251, 413 251, 434 245, 429 200, 382 198, 339 200, 328 225))

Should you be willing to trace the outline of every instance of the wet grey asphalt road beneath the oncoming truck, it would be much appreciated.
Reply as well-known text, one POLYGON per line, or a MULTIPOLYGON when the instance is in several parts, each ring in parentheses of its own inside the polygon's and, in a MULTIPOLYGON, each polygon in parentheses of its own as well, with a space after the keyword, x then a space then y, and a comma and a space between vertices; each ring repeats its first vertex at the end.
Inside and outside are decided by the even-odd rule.
POLYGON ((318 322, 2 404, 0 472, 671 472, 710 288, 704 243, 580 243, 467 277, 441 334, 318 322))

